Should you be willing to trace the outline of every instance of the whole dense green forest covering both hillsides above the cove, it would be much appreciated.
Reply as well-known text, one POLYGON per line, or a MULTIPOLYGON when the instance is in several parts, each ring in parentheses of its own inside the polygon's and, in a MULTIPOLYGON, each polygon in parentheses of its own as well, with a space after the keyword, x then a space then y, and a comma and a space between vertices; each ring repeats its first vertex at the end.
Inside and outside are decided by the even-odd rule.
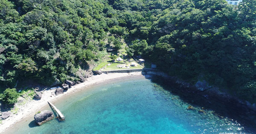
POLYGON ((0 0, 1 92, 79 79, 112 35, 128 56, 256 102, 256 0, 0 0))

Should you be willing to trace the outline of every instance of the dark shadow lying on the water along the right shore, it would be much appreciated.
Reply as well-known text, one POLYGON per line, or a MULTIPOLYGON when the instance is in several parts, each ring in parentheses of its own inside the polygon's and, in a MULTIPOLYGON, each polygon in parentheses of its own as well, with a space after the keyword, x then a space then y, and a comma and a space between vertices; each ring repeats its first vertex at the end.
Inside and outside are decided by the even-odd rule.
POLYGON ((249 115, 243 106, 237 106, 234 105, 234 102, 211 97, 210 95, 206 97, 198 92, 193 92, 193 89, 182 89, 180 85, 175 84, 172 80, 161 76, 154 75, 148 77, 146 73, 144 76, 173 95, 179 96, 183 102, 204 108, 205 110, 212 110, 219 118, 227 117, 230 120, 236 120, 238 123, 242 124, 249 133, 256 134, 256 116, 253 116, 254 113, 249 115))

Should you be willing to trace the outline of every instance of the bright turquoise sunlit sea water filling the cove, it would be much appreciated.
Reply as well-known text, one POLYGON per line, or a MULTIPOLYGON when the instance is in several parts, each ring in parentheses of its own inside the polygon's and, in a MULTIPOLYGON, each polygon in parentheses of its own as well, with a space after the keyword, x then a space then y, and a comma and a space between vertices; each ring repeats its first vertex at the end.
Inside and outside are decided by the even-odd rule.
MULTIPOLYGON (((66 120, 36 126, 33 118, 17 123, 13 134, 248 134, 242 125, 189 104, 150 80, 118 81, 76 92, 55 106, 66 120)), ((44 109, 49 109, 45 107, 44 109)), ((43 109, 43 110, 44 110, 43 109)))

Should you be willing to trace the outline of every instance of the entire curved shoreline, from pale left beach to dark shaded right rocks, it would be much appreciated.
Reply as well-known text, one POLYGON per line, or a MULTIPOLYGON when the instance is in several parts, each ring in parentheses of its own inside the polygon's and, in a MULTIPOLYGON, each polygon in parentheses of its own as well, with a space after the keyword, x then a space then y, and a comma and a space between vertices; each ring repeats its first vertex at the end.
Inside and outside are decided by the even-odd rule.
MULTIPOLYGON (((0 125, 0 128, 2 130, 0 131, 0 133, 3 132, 3 130, 5 130, 6 128, 15 124, 17 121, 31 114, 32 112, 36 112, 36 110, 40 109, 40 107, 45 106, 47 104, 47 99, 55 100, 61 97, 62 95, 67 94, 67 91, 75 92, 75 89, 85 87, 88 85, 93 85, 96 82, 111 80, 113 78, 121 78, 127 76, 131 77, 132 75, 144 75, 145 78, 150 78, 153 82, 160 83, 162 84, 162 86, 167 86, 166 89, 170 89, 170 87, 172 87, 171 89, 173 93, 179 95, 181 98, 183 98, 183 100, 186 100, 187 102, 193 105, 202 106, 206 109, 212 109, 219 115, 219 117, 230 117, 239 120, 241 123, 248 123, 249 125, 247 126, 249 127, 256 128, 255 104, 250 104, 249 102, 236 98, 228 94, 227 92, 221 92, 218 87, 209 86, 209 84, 206 81, 198 81, 195 85, 191 85, 185 81, 178 79, 177 77, 171 77, 166 73, 157 70, 142 70, 142 72, 134 73, 125 73, 122 71, 120 73, 109 74, 101 74, 101 72, 99 71, 94 71, 93 73, 95 75, 93 75, 92 78, 90 78, 90 76, 87 75, 88 78, 86 78, 85 82, 81 84, 76 85, 76 83, 73 81, 66 81, 65 84, 62 84, 61 87, 55 89, 54 92, 52 92, 51 90, 46 90, 45 92, 43 92, 43 94, 41 94, 41 92, 37 92, 35 95, 35 100, 29 102, 29 105, 37 103, 35 101, 39 101, 41 105, 30 108, 28 106, 24 106, 22 114, 17 115, 20 115, 20 118, 17 119, 13 119, 17 116, 15 114, 12 114, 12 119, 3 121, 3 124, 6 122, 9 124, 0 125), (47 95, 47 97, 45 97, 45 95, 47 95), (43 100, 41 98, 43 98, 43 100), (26 114, 23 115, 24 113, 26 114)), ((187 109, 191 110, 192 108, 193 107, 191 106, 187 109)))

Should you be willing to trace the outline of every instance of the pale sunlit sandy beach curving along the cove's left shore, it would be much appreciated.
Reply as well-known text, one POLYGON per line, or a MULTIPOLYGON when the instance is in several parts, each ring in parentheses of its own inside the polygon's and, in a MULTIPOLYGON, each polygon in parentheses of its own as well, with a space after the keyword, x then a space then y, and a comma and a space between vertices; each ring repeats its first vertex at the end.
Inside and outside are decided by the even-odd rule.
MULTIPOLYGON (((76 91, 80 91, 77 89, 85 88, 92 86, 94 84, 99 84, 106 81, 111 81, 115 79, 120 78, 132 78, 132 77, 142 77, 143 75, 141 72, 134 72, 134 73, 109 73, 109 74, 101 74, 101 75, 93 75, 92 77, 88 78, 87 81, 77 84, 75 86, 72 86, 70 89, 67 90, 67 92, 64 92, 64 94, 56 96, 54 94, 55 90, 45 90, 42 94, 41 100, 30 100, 29 102, 23 104, 23 105, 17 105, 19 108, 19 111, 17 114, 11 114, 9 118, 6 120, 2 120, 2 124, 0 124, 0 133, 3 133, 6 131, 7 128, 12 127, 15 125, 15 123, 19 122, 23 118, 27 116, 34 115, 38 110, 40 110, 42 107, 48 105, 47 101, 54 101, 58 98, 61 98, 65 95, 71 94, 76 91)), ((86 89, 84 89, 86 90, 86 89)))

